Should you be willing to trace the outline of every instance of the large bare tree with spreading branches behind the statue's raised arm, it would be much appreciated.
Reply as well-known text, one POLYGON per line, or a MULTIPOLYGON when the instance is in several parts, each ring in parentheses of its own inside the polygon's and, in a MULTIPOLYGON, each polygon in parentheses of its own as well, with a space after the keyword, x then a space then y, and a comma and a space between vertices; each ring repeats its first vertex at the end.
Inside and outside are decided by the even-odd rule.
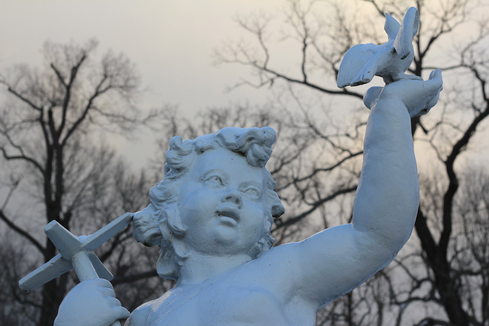
MULTIPOLYGON (((420 319, 416 324, 488 325, 486 288, 484 286, 478 287, 477 295, 475 295, 474 290, 470 290, 474 283, 486 284, 487 264, 477 262, 475 254, 472 252, 464 256, 462 254, 464 250, 469 250, 467 245, 464 250, 457 246, 459 241, 468 241, 467 231, 462 232, 465 240, 459 239, 458 231, 454 232, 457 223, 462 220, 464 225, 472 223, 467 223, 465 215, 456 212, 460 171, 456 169, 455 163, 464 150, 470 146, 474 135, 480 130, 481 123, 489 114, 489 96, 487 93, 489 58, 486 54, 487 21, 480 22, 479 28, 474 29, 472 26, 473 34, 466 35, 463 41, 452 44, 453 46, 446 50, 447 52, 441 52, 435 50, 435 47, 441 44, 441 40, 447 40, 445 35, 450 35, 460 25, 476 19, 477 11, 474 9, 477 8, 478 3, 468 0, 429 2, 358 0, 356 4, 363 10, 369 9, 370 6, 370 13, 378 13, 378 19, 375 23, 379 26, 382 25, 385 12, 400 19, 407 7, 417 7, 420 12, 420 30, 414 39, 415 58, 409 71, 421 76, 425 71, 441 68, 446 72, 445 82, 449 81, 447 77, 457 78, 455 74, 449 73, 451 71, 464 77, 462 83, 445 83, 451 84, 452 89, 450 89, 449 94, 445 92, 445 105, 442 103, 439 105, 440 114, 435 113, 422 118, 416 117, 411 121, 415 142, 430 144, 443 169, 431 175, 430 182, 427 183, 428 185, 439 184, 437 196, 431 196, 429 189, 426 187, 424 189, 426 195, 424 198, 431 199, 422 200, 418 211, 415 229, 419 241, 417 242, 419 250, 412 249, 408 254, 400 256, 388 269, 382 271, 382 277, 378 277, 378 280, 384 280, 382 282, 388 285, 386 293, 390 299, 387 302, 378 300, 380 296, 376 294, 376 283, 368 282, 358 288, 356 292, 338 299, 329 307, 327 306, 325 312, 318 315, 318 318, 324 317, 322 320, 319 318, 318 323, 327 321, 327 324, 331 325, 365 325, 365 323, 381 325, 383 311, 394 309, 395 313, 392 318, 397 325, 400 325, 405 316, 404 313, 409 311, 411 307, 415 307, 417 304, 431 304, 442 307, 443 313, 438 313, 436 316, 426 315, 426 317, 419 314, 420 319), (442 62, 440 59, 443 60, 443 65, 440 65, 442 62), (462 118, 460 116, 461 111, 464 112, 462 118), (440 180, 446 182, 440 182, 440 180), (460 261, 459 257, 462 256, 468 260, 460 261), (472 265, 475 267, 469 267, 472 265), (468 279, 471 281, 467 281, 468 279), (403 280, 407 280, 406 282, 410 285, 401 286, 403 280), (366 288, 370 290, 367 291, 366 288), (370 293, 368 298, 365 293, 370 293), (368 304, 362 306, 362 303, 367 301, 368 304), (372 308, 375 306, 375 309, 372 308), (355 310, 352 307, 357 308, 355 310), (364 318, 362 316, 364 316, 365 311, 370 311, 377 317, 374 319, 364 318), (340 316, 342 317, 340 318, 340 316)), ((359 19, 362 18, 360 13, 348 11, 341 5, 333 4, 326 10, 319 11, 332 13, 323 19, 319 15, 315 15, 318 12, 318 7, 322 5, 324 5, 323 2, 316 1, 308 3, 289 1, 288 8, 284 12, 286 23, 283 27, 281 40, 292 39, 297 41, 296 52, 300 53, 300 60, 298 64, 289 65, 287 69, 274 64, 276 62, 274 56, 279 54, 273 54, 274 43, 270 41, 272 33, 268 29, 271 20, 264 14, 241 16, 236 19, 246 31, 255 37, 256 46, 244 42, 228 42, 216 52, 218 64, 246 65, 257 76, 256 80, 245 79, 234 87, 250 85, 289 90, 289 96, 298 104, 299 112, 302 112, 302 120, 300 120, 302 128, 310 130, 316 137, 338 149, 334 161, 339 163, 338 165, 310 166, 308 173, 304 171, 308 169, 302 167, 303 176, 293 179, 294 186, 290 189, 293 189, 293 192, 297 194, 296 196, 304 208, 293 211, 291 216, 288 215, 287 221, 289 222, 277 221, 277 228, 280 228, 283 223, 294 224, 305 217, 311 219, 314 216, 313 213, 317 211, 324 217, 324 211, 321 210, 323 200, 338 192, 355 191, 355 178, 348 180, 340 188, 330 189, 329 192, 325 192, 325 189, 321 187, 319 189, 323 193, 317 191, 316 184, 324 184, 326 177, 331 177, 331 174, 325 175, 322 173, 323 171, 331 171, 329 169, 344 166, 345 161, 353 162, 356 155, 361 155, 362 152, 352 150, 356 149, 356 143, 341 142, 341 145, 338 145, 334 142, 333 139, 335 141, 341 139, 337 136, 351 136, 352 132, 340 129, 334 137, 325 133, 323 130, 331 128, 332 120, 327 115, 326 126, 320 126, 321 120, 315 117, 311 118, 311 110, 304 109, 304 106, 301 105, 301 103, 308 101, 307 95, 298 96, 296 94, 300 92, 298 89, 311 89, 313 92, 307 93, 309 98, 322 93, 326 97, 343 95, 342 98, 344 99, 361 99, 362 95, 353 88, 346 87, 346 90, 338 90, 334 87, 338 66, 343 54, 352 45, 369 41, 380 42, 376 30, 369 27, 370 24, 365 21, 364 15, 363 19, 359 19), (290 67, 297 70, 294 71, 290 67), (322 76, 318 76, 318 73, 321 73, 322 76), (345 156, 341 156, 341 154, 345 156), (299 180, 303 182, 303 187, 297 186, 299 180), (320 195, 317 197, 305 196, 311 189, 320 195)), ((345 101, 345 105, 352 105, 349 103, 345 101)), ((289 109, 289 107, 284 109, 289 109)), ((361 126, 363 121, 365 120, 359 116, 360 123, 356 124, 355 127, 361 126)), ((353 128, 351 127, 351 129, 353 128)), ((314 149, 317 150, 317 148, 314 149)), ((309 157, 302 156, 301 159, 308 160, 309 157)), ((316 162, 320 162, 320 160, 316 162)), ((352 176, 358 174, 358 167, 352 172, 352 176)), ((421 173, 427 174, 423 171, 421 173)), ((336 184, 341 185, 341 182, 336 184)), ((279 190, 282 190, 281 187, 282 183, 278 182, 279 190)), ((280 195, 283 196, 283 193, 280 195)), ((301 205, 297 207, 301 207, 301 205)), ((328 218, 323 219, 326 222, 328 220, 328 218)), ((473 225, 479 223, 473 219, 471 221, 475 223, 473 225)), ((325 226, 327 226, 326 222, 325 226)), ((463 229, 465 230, 467 227, 463 229)), ((484 238, 481 235, 477 237, 484 238)), ((477 244, 483 245, 479 242, 477 244)), ((478 252, 477 255, 478 259, 483 261, 481 257, 484 257, 484 254, 478 252)))

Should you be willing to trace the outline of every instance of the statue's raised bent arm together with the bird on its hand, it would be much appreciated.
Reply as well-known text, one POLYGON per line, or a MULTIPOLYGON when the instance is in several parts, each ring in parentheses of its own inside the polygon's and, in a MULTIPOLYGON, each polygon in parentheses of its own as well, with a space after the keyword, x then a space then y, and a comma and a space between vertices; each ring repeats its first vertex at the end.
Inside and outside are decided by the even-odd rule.
MULTIPOLYGON (((373 44, 360 44, 348 51, 347 62, 341 64, 339 87, 364 84, 374 74, 388 84, 371 87, 364 96, 371 112, 353 222, 329 228, 298 243, 278 246, 274 250, 276 257, 272 257, 272 252, 266 254, 277 263, 280 258, 288 257, 290 273, 297 280, 293 292, 317 309, 389 264, 411 235, 419 204, 419 183, 410 118, 426 114, 437 103, 443 88, 441 70, 433 71, 427 81, 404 74, 413 58, 411 39, 416 34, 417 15, 417 10, 410 8, 400 28, 399 23, 386 15, 385 29, 391 33, 389 42, 384 44, 388 46, 381 49, 385 53, 378 52, 378 56, 383 56, 380 59, 374 58, 377 54, 372 54, 370 59, 361 57, 369 53, 373 44), (394 33, 392 26, 396 24, 399 31, 394 33), (396 44, 405 41, 407 36, 411 51, 401 55, 396 51, 404 51, 408 46, 401 49, 396 44), (363 49, 358 50, 359 46, 363 49), (348 64, 355 62, 354 55, 358 60, 350 67, 348 64)), ((283 268, 288 268, 287 264, 283 268)))

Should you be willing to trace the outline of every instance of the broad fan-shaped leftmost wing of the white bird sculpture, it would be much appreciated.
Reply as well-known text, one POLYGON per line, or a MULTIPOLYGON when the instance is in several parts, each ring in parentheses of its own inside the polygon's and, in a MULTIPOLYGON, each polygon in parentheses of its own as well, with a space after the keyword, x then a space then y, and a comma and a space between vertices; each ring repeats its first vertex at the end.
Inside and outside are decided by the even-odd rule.
POLYGON ((374 43, 352 46, 343 57, 338 71, 338 87, 349 86, 363 66, 382 49, 374 43))

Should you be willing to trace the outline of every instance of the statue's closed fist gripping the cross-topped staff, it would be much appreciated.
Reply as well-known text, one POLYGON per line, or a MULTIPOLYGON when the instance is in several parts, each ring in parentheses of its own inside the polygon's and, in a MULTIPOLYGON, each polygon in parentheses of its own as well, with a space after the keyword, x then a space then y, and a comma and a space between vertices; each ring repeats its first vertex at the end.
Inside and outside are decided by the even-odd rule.
POLYGON ((115 299, 112 284, 93 279, 77 284, 60 305, 54 326, 109 326, 129 311, 115 299))

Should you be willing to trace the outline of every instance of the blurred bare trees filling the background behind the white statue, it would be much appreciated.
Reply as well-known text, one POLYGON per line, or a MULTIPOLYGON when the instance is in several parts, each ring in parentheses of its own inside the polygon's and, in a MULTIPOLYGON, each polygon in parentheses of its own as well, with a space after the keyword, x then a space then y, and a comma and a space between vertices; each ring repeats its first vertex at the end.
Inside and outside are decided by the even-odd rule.
MULTIPOLYGON (((384 13, 400 21, 409 6, 420 12, 409 71, 426 79, 440 68, 445 87, 438 105, 411 121, 421 186, 415 231, 389 266, 321 309, 316 325, 489 326, 489 171, 477 163, 488 145, 489 29, 481 15, 488 6, 470 0, 289 1, 276 15, 237 15, 249 38, 222 43, 214 62, 249 67, 252 78, 236 76, 229 91, 267 88, 271 100, 207 108, 192 118, 171 106, 143 117, 133 64, 112 52, 98 58, 95 41, 45 43, 43 66, 2 72, 0 325, 52 325, 78 282, 74 273, 29 294, 17 285, 57 253, 44 225, 57 220, 89 234, 144 208, 175 135, 195 138, 227 126, 277 131, 267 169, 286 214, 272 229, 276 244, 350 222, 367 88, 338 89, 338 67, 351 46, 384 43, 384 13), (142 128, 160 136, 156 158, 140 172, 95 136, 129 137, 142 128)), ((130 226, 98 249, 130 311, 174 285, 157 277, 157 254, 135 243, 130 226)))

